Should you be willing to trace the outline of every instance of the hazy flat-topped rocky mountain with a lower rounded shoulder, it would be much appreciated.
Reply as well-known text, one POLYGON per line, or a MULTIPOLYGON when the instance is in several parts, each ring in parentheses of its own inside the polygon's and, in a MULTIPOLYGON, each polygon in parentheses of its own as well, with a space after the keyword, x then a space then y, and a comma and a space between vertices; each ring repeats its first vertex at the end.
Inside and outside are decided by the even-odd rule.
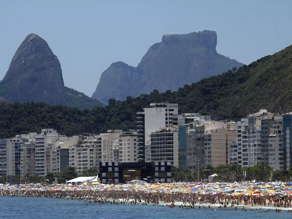
POLYGON ((91 98, 107 102, 109 98, 124 100, 154 89, 177 91, 185 84, 243 65, 218 54, 216 45, 215 31, 165 34, 162 42, 148 49, 137 67, 112 63, 102 73, 91 98))

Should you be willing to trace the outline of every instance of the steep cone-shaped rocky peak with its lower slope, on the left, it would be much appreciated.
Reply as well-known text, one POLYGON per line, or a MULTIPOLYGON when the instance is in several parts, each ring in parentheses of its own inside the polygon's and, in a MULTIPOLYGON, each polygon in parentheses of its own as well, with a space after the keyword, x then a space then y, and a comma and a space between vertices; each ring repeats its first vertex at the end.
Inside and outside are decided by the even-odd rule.
POLYGON ((8 102, 42 101, 51 105, 81 105, 82 108, 101 105, 99 101, 88 100, 83 93, 64 86, 57 56, 36 34, 29 34, 15 52, 0 82, 0 96, 8 102))

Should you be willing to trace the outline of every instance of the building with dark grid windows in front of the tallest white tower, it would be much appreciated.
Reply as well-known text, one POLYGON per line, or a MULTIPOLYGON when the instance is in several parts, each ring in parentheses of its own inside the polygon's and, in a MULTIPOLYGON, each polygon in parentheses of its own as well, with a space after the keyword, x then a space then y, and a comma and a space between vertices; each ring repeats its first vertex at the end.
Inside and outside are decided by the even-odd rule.
POLYGON ((170 161, 178 166, 178 126, 151 133, 151 161, 170 161))

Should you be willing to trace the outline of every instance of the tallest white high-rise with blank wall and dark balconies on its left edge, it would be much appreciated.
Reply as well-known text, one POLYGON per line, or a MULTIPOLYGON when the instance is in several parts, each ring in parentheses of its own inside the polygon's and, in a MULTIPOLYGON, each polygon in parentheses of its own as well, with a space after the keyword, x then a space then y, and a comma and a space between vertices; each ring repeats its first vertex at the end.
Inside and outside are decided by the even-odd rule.
POLYGON ((178 125, 177 103, 151 103, 137 112, 138 162, 145 162, 145 144, 152 132, 163 127, 178 125))

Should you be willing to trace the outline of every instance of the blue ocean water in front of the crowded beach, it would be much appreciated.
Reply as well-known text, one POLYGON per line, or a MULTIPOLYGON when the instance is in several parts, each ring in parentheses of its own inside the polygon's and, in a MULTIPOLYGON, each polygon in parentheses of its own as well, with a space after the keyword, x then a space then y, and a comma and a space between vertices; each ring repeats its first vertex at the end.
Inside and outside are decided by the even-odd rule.
MULTIPOLYGON (((239 206, 242 207, 242 206, 239 206)), ((88 204, 84 201, 64 200, 53 198, 31 197, 0 197, 0 218, 10 219, 81 219, 81 218, 105 218, 105 219, 171 219, 171 218, 200 218, 200 219, 250 219, 250 218, 291 218, 292 213, 282 210, 277 213, 273 210, 265 213, 266 209, 253 211, 248 209, 182 209, 169 208, 162 205, 116 205, 116 204, 88 204)))

